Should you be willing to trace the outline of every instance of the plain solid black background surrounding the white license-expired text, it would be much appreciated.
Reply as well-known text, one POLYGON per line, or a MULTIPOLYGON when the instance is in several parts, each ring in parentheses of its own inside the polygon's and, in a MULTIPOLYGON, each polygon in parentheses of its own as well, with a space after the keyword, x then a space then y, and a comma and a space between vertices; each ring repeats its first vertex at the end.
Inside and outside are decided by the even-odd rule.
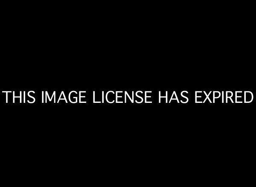
POLYGON ((1 91, 151 90, 154 104, 5 105, 1 98, 5 176, 120 184, 250 178, 255 101, 196 105, 193 95, 255 95, 247 7, 43 7, 3 13, 1 91), (183 90, 188 104, 157 104, 158 91, 183 90))

